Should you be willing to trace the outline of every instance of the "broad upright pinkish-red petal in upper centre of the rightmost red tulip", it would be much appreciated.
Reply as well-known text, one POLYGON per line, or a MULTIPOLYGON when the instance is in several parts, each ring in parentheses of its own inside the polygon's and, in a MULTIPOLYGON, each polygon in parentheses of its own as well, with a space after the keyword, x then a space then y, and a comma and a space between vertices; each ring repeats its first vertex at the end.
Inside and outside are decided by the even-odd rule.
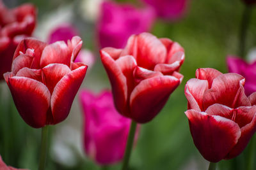
POLYGON ((214 103, 220 103, 230 108, 251 106, 244 94, 244 78, 236 73, 221 74, 212 81, 212 87, 205 91, 203 109, 214 103))

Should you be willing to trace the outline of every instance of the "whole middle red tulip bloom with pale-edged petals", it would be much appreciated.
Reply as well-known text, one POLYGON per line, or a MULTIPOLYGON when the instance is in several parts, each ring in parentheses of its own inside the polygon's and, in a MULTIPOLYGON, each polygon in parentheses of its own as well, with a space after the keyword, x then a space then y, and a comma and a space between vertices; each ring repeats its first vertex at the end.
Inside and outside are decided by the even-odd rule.
POLYGON ((144 32, 123 49, 100 50, 116 109, 138 123, 152 120, 182 81, 184 49, 168 38, 144 32))

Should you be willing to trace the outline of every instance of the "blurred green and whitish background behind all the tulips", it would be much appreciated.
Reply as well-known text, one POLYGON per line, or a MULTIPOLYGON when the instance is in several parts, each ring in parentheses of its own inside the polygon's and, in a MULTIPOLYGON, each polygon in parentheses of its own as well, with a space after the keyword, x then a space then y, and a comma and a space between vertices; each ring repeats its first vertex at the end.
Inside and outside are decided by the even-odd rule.
MULTIPOLYGON (((81 89, 93 92, 111 89, 99 57, 97 26, 101 1, 3 0, 3 3, 8 8, 23 3, 35 4, 38 17, 33 36, 42 41, 47 41, 50 32, 58 25, 69 23, 76 27, 83 39, 83 49, 90 50, 95 60, 86 73, 81 89)), ((138 0, 127 0, 125 3, 138 8, 142 6, 138 0)), ((185 49, 186 59, 180 69, 184 80, 170 96, 161 113, 148 124, 141 125, 138 142, 132 151, 131 169, 207 169, 208 162, 196 150, 189 132, 188 119, 184 114, 187 110, 184 85, 195 77, 198 67, 212 67, 227 73, 225 59, 228 54, 237 55, 244 8, 241 0, 188 0, 181 17, 175 20, 155 18, 149 32, 158 38, 177 41, 185 49)), ((252 9, 246 40, 246 53, 249 57, 253 56, 253 48, 256 47, 254 18, 256 10, 252 9)), ((0 154, 4 162, 13 167, 37 169, 40 129, 33 129, 25 124, 13 104, 7 84, 3 81, 0 102, 0 154)), ((83 113, 78 97, 74 100, 68 118, 50 129, 46 169, 102 168, 84 153, 83 113)), ((222 160, 219 169, 232 169, 231 164, 232 160, 222 160)), ((239 166, 243 167, 243 164, 237 168, 239 166)), ((108 169, 120 169, 120 163, 108 169)))

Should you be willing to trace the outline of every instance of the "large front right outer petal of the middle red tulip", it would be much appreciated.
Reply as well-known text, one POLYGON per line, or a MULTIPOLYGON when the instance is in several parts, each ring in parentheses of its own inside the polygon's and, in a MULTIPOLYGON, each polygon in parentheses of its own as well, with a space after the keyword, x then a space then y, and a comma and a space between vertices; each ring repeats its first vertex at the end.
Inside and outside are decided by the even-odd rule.
POLYGON ((179 84, 180 80, 173 76, 156 76, 141 81, 131 93, 129 117, 138 123, 149 122, 179 84))

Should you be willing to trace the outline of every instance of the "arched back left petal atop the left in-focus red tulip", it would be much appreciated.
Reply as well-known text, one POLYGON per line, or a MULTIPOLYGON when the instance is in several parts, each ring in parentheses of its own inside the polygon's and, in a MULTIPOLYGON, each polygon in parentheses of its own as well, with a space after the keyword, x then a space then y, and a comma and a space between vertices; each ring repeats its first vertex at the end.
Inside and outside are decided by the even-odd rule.
POLYGON ((28 48, 35 50, 35 57, 33 63, 31 64, 31 69, 39 69, 40 68, 40 57, 42 55, 42 51, 44 50, 47 44, 39 41, 35 38, 26 38, 20 41, 17 46, 15 53, 13 55, 13 60, 20 55, 20 52, 26 53, 28 48))

